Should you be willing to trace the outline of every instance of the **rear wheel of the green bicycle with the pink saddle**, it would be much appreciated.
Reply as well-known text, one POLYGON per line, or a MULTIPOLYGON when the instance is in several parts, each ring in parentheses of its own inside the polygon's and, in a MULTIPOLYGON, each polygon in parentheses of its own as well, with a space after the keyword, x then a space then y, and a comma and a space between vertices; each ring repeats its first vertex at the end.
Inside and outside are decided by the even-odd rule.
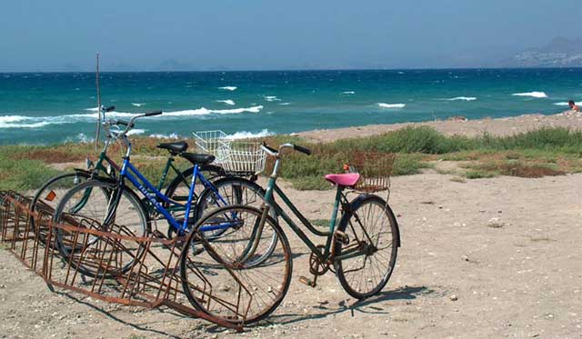
POLYGON ((360 195, 350 204, 337 229, 336 274, 347 294, 365 299, 379 293, 394 270, 399 246, 396 217, 377 195, 360 195))

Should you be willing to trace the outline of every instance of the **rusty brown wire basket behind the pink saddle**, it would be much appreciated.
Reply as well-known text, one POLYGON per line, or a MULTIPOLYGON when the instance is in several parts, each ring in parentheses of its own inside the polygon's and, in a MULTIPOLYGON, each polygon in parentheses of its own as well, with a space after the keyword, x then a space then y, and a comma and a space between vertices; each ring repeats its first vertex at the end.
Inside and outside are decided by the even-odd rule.
POLYGON ((350 171, 360 174, 354 189, 372 193, 390 189, 390 174, 396 155, 393 153, 357 153, 349 164, 350 171))

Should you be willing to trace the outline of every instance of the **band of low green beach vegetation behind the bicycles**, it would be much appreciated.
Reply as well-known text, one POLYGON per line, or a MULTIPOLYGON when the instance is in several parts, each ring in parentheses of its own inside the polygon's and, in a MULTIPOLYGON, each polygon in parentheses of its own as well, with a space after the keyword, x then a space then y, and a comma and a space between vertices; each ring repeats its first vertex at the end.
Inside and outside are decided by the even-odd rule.
MULTIPOLYGON (((190 145, 188 151, 196 152, 194 140, 186 141, 190 145)), ((396 154, 391 175, 418 174, 423 169, 434 167, 438 160, 459 162, 459 171, 443 174, 457 174, 467 179, 582 172, 582 131, 567 128, 542 128, 508 136, 487 133, 465 136, 445 135, 429 126, 407 126, 383 135, 329 143, 316 143, 293 135, 269 136, 266 142, 274 146, 295 143, 313 151, 311 156, 289 152, 283 162, 281 177, 300 190, 332 188, 323 176, 341 173, 344 164, 366 152, 396 154)), ((146 137, 135 137, 133 143, 135 165, 154 183, 162 173, 167 156, 165 150, 156 148, 158 143, 158 139, 146 137)), ((0 146, 0 189, 35 189, 59 173, 55 164, 74 167, 78 163, 77 166, 83 166, 85 157, 95 158, 95 154, 92 144, 0 146)), ((120 161, 122 154, 120 145, 110 147, 109 155, 115 161, 120 161)), ((188 165, 181 159, 176 164, 181 168, 188 165)), ((269 159, 266 174, 272 165, 273 161, 269 159)))

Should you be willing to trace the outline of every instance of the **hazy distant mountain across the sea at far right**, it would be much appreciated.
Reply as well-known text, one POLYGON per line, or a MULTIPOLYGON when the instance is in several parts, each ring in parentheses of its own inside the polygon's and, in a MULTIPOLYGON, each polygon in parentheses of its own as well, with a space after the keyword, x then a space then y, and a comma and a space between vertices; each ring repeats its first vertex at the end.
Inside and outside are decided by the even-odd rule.
POLYGON ((545 46, 519 52, 503 64, 517 67, 580 67, 582 39, 557 37, 545 46))

